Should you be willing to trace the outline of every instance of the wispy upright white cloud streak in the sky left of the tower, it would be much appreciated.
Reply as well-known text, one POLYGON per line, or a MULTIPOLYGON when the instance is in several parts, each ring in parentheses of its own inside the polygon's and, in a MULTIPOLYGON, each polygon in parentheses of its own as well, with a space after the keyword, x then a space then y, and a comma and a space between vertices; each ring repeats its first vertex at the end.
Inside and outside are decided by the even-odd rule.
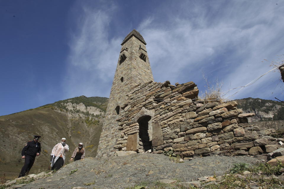
POLYGON ((76 6, 82 6, 82 11, 76 30, 70 34, 64 80, 66 96, 108 97, 122 41, 122 38, 109 39, 111 12, 117 7, 81 3, 76 6))

